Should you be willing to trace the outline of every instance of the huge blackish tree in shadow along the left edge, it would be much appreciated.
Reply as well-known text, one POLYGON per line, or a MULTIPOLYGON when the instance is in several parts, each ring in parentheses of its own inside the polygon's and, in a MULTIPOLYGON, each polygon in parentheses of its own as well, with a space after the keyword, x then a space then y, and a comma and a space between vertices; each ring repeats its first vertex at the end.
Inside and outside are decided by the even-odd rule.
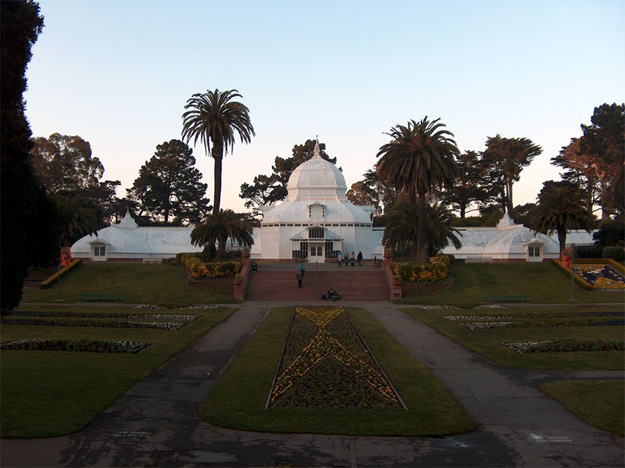
POLYGON ((28 163, 31 128, 24 115, 26 66, 44 26, 38 3, 0 2, 0 309, 22 299, 28 268, 58 258, 56 210, 28 163))

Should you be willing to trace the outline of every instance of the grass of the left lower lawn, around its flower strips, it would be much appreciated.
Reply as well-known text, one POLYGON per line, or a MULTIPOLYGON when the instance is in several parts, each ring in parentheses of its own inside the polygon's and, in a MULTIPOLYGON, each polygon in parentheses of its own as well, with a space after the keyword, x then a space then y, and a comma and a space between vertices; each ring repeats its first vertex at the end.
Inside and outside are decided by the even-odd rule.
MULTIPOLYGON (((38 310, 60 309, 42 307, 38 310)), ((90 311, 85 306, 63 310, 90 311)), ((101 312, 103 308, 92 310, 101 312)), ((120 307, 104 310, 131 311, 120 307)), ((232 312, 233 308, 179 311, 201 317, 177 331, 3 325, 2 342, 39 338, 124 340, 152 344, 136 354, 1 351, 1 437, 53 437, 78 431, 134 383, 149 376, 156 367, 185 349, 190 342, 232 312)))

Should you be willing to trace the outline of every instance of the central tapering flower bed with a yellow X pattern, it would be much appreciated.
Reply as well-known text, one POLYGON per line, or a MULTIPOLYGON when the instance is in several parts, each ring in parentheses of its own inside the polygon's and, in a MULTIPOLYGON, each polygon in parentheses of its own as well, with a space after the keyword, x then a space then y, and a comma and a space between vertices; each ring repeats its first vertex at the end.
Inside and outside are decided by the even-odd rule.
POLYGON ((294 313, 272 408, 403 408, 342 307, 294 313))

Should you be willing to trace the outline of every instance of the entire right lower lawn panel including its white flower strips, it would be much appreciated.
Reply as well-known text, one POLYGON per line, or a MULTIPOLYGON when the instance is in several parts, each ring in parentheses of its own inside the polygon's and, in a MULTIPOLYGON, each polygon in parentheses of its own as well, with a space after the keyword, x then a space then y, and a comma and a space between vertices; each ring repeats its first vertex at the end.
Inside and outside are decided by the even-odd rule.
POLYGON ((535 305, 506 310, 406 309, 440 333, 509 367, 624 367, 624 318, 619 306, 535 305))

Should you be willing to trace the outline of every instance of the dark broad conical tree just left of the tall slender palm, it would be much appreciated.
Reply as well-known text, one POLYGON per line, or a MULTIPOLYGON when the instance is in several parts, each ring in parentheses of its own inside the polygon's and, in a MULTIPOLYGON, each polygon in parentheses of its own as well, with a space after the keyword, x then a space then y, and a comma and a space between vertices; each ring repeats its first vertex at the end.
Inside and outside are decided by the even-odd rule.
POLYGON ((206 217, 210 206, 204 197, 207 185, 194 167, 193 150, 181 140, 169 140, 156 147, 154 156, 139 169, 133 187, 126 189, 128 200, 135 203, 138 218, 169 223, 197 223, 206 217))

